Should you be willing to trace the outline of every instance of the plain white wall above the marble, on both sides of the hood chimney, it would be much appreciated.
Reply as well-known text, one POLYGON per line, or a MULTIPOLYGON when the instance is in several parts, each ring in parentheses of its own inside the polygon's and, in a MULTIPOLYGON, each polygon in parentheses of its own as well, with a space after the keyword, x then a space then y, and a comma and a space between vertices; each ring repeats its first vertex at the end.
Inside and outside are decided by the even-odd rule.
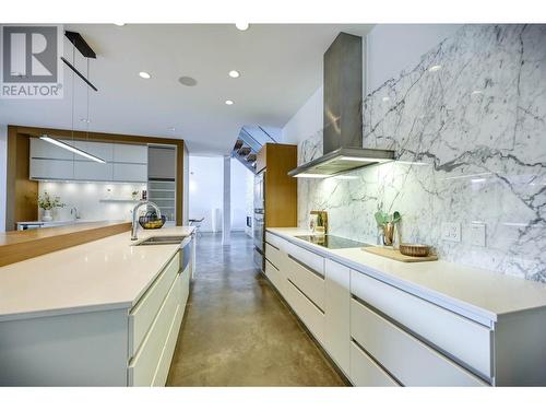
MULTIPOLYGON (((366 37, 364 75, 367 93, 452 35, 460 24, 379 24, 366 37)), ((332 38, 333 40, 333 38, 332 38)), ((323 93, 320 86, 283 128, 283 141, 299 143, 322 130, 323 93)))

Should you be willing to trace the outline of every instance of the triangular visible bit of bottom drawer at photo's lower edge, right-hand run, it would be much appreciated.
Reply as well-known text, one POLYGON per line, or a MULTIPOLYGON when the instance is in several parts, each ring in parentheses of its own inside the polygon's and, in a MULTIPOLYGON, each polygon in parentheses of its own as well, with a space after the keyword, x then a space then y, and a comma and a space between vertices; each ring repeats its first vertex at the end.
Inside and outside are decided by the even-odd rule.
POLYGON ((351 380, 357 387, 399 387, 400 385, 354 341, 351 342, 351 380))

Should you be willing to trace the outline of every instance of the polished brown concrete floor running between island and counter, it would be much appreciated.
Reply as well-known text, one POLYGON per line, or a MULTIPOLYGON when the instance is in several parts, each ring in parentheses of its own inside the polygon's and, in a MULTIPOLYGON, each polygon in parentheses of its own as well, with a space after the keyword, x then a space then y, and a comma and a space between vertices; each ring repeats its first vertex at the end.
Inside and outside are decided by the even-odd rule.
POLYGON ((252 241, 198 239, 197 272, 167 386, 343 386, 253 268, 252 241))

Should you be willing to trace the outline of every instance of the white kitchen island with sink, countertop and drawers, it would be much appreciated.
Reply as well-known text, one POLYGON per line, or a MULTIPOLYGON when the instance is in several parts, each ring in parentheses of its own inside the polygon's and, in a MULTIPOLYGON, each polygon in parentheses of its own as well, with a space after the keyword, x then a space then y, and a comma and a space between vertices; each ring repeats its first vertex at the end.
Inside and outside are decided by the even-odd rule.
POLYGON ((0 385, 163 385, 193 263, 185 236, 134 246, 130 233, 0 268, 0 385), (189 255, 188 255, 189 254, 189 255))

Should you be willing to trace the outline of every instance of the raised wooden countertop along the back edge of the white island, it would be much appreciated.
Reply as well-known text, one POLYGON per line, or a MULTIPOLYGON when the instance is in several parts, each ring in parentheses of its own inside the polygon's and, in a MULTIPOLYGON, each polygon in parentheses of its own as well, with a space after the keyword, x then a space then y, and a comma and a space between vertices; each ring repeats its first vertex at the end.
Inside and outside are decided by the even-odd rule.
POLYGON ((0 233, 0 266, 127 232, 130 222, 94 222, 0 233))

